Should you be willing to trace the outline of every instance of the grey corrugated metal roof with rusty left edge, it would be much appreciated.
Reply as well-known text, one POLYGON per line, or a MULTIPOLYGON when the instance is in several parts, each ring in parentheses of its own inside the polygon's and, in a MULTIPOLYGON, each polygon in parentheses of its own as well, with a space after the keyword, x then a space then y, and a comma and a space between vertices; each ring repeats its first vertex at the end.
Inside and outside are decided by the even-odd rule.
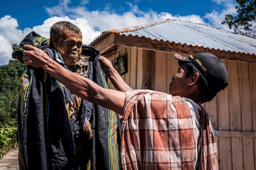
POLYGON ((125 29, 104 31, 91 45, 98 44, 102 39, 110 35, 110 33, 146 37, 158 41, 169 41, 198 47, 208 47, 210 49, 234 51, 237 53, 256 54, 256 37, 241 35, 188 21, 166 20, 125 29))

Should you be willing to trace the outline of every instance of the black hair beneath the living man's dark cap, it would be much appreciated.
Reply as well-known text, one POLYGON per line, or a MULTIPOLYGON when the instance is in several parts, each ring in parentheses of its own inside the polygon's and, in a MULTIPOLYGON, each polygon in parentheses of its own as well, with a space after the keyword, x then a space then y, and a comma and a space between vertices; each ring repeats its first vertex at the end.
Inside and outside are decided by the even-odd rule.
POLYGON ((194 64, 186 63, 186 68, 188 68, 186 77, 193 76, 196 72, 199 74, 198 88, 201 96, 200 104, 211 101, 216 96, 218 90, 211 85, 210 80, 207 80, 194 64))

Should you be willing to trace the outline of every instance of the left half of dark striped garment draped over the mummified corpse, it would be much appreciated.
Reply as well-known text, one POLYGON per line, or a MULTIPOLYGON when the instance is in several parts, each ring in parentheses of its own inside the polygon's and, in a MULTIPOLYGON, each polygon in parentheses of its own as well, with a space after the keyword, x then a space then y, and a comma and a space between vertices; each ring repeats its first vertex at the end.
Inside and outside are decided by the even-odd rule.
MULTIPOLYGON (((23 62, 24 44, 39 47, 48 43, 49 39, 31 32, 21 45, 12 46, 12 56, 23 62)), ((55 50, 44 50, 51 59, 62 61, 55 50)), ((63 61, 60 64, 64 66, 63 61)), ((70 119, 74 114, 68 111, 72 103, 66 93, 69 90, 44 70, 28 66, 22 74, 17 109, 20 169, 75 168, 74 120, 70 119)))

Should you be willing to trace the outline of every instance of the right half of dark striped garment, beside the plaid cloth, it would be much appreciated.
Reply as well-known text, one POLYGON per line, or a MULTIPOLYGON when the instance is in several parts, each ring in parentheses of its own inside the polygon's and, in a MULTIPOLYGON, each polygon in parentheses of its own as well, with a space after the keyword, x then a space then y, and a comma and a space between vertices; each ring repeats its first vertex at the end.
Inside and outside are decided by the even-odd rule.
MULTIPOLYGON (((90 80, 102 88, 108 89, 105 74, 100 66, 98 57, 100 56, 99 51, 93 47, 82 45, 81 55, 90 56, 88 60, 88 76, 90 80)), ((82 141, 85 143, 86 152, 84 158, 79 155, 77 163, 80 165, 80 169, 104 169, 104 170, 118 170, 119 169, 119 145, 120 145, 120 131, 118 127, 117 113, 110 109, 106 109, 97 104, 92 104, 86 100, 82 100, 80 105, 80 123, 76 120, 76 124, 79 125, 76 131, 79 131, 80 135, 75 137, 75 143, 81 144, 82 141), (91 111, 91 112, 90 112, 91 111), (88 117, 87 113, 92 115, 88 117), (90 118, 92 125, 92 136, 93 138, 88 140, 83 138, 84 132, 84 120, 90 118), (84 139, 84 141, 83 141, 84 139), (91 148, 90 148, 91 147, 91 148), (100 162, 100 163, 99 163, 100 162), (85 165, 85 167, 83 167, 85 165)), ((75 131, 75 133, 76 133, 75 131)), ((86 137, 87 138, 87 137, 86 137)), ((76 157, 78 158, 78 156, 76 157)), ((78 167, 76 164, 76 168, 78 167)))

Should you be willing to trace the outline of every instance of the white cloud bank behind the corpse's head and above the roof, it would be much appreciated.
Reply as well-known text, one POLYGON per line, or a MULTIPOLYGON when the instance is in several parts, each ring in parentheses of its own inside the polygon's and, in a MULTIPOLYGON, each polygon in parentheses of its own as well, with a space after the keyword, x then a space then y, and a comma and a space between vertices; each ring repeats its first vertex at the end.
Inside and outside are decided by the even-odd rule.
POLYGON ((90 44, 101 32, 106 30, 132 27, 167 19, 186 20, 226 29, 225 25, 221 25, 221 21, 224 20, 225 14, 236 12, 235 3, 233 0, 214 1, 219 4, 224 3, 225 8, 220 12, 213 10, 211 13, 206 14, 204 18, 208 19, 208 23, 204 21, 204 18, 194 14, 173 16, 168 12, 158 13, 154 10, 144 12, 130 2, 126 2, 130 10, 122 14, 112 10, 111 4, 105 4, 104 10, 89 11, 83 6, 83 4, 88 4, 89 0, 81 1, 81 5, 77 7, 69 6, 71 0, 61 0, 57 6, 45 7, 46 12, 52 17, 46 19, 42 25, 23 30, 19 29, 15 18, 4 16, 0 18, 0 65, 7 64, 11 59, 12 43, 20 43, 30 31, 35 31, 44 37, 50 37, 50 27, 54 23, 63 20, 70 21, 81 29, 84 44, 90 44))

